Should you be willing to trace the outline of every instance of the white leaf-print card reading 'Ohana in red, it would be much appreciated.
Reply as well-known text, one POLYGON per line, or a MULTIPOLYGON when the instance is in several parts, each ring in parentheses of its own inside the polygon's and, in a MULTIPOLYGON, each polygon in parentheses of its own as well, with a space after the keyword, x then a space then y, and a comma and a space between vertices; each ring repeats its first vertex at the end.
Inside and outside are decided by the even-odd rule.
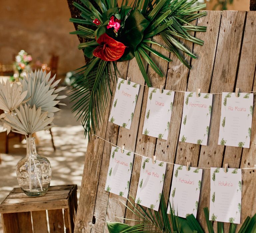
POLYGON ((143 134, 167 140, 174 92, 149 88, 143 134))

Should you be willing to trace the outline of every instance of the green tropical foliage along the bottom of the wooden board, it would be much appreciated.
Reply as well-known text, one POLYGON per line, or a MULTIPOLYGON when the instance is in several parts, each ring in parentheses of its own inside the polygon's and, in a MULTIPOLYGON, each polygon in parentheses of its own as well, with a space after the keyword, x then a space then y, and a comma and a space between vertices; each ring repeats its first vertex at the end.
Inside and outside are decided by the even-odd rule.
MULTIPOLYGON (((161 196, 160 210, 153 211, 141 205, 134 205, 129 199, 128 202, 133 208, 128 208, 141 220, 134 220, 137 224, 130 226, 121 222, 107 222, 109 233, 205 233, 193 214, 187 215, 186 218, 177 217, 173 208, 170 208, 170 214, 167 214, 164 195, 161 196), (138 223, 139 222, 139 223, 138 223)), ((134 200, 134 199, 133 199, 134 200)), ((168 201, 170 204, 170 200, 168 201)), ((173 205, 172 205, 173 206, 173 205)), ((209 233, 214 233, 213 221, 209 220, 209 210, 204 208, 205 221, 209 233)), ((124 220, 131 220, 125 219, 124 220)), ((238 233, 254 233, 256 231, 256 214, 250 218, 247 217, 242 224, 238 233)), ((224 232, 223 222, 217 222, 217 232, 224 232)), ((236 224, 231 223, 229 233, 236 232, 236 224)))

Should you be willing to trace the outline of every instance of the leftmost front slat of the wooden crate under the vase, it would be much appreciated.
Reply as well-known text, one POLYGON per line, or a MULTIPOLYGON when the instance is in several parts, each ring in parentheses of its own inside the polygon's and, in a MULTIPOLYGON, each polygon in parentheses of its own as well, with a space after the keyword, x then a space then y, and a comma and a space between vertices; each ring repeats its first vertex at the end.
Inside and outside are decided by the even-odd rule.
POLYGON ((19 232, 17 213, 1 214, 4 233, 19 232))

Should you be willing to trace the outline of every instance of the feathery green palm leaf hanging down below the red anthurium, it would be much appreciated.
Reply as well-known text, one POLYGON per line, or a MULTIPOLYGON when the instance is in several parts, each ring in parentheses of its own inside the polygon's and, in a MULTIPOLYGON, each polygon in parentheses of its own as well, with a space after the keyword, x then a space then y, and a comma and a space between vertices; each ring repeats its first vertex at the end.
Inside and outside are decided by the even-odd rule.
POLYGON ((72 84, 70 100, 75 102, 72 112, 76 112, 78 119, 81 119, 85 136, 90 129, 93 132, 96 130, 105 113, 109 94, 112 95, 109 80, 112 70, 117 71, 115 64, 94 58, 78 73, 72 84))

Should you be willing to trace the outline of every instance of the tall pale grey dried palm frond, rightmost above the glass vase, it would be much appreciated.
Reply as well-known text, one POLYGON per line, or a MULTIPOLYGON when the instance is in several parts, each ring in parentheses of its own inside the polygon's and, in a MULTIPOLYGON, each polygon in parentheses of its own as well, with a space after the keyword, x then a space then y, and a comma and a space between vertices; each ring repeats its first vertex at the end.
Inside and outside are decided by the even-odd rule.
MULTIPOLYGON (((55 75, 51 77, 51 73, 38 70, 27 75, 22 83, 23 90, 27 90, 26 97, 31 97, 28 100, 29 106, 34 106, 36 109, 41 108, 42 112, 48 112, 48 117, 52 117, 54 113, 60 109, 54 107, 60 105, 60 100, 66 96, 59 96, 58 93, 65 89, 65 87, 57 88, 60 80, 55 80, 55 75)), ((63 105, 63 104, 62 104, 63 105)))

